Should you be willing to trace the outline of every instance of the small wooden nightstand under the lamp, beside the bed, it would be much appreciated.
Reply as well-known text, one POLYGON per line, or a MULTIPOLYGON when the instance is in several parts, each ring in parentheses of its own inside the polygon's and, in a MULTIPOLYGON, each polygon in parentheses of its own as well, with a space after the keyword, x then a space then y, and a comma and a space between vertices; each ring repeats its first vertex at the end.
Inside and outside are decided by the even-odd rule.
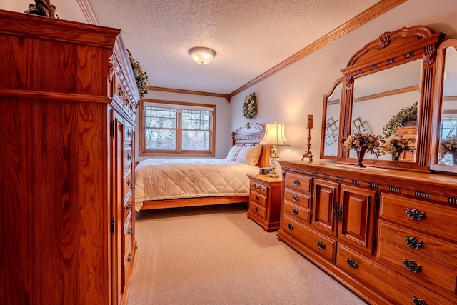
POLYGON ((282 178, 248 174, 251 180, 248 219, 256 221, 267 232, 279 229, 282 178))

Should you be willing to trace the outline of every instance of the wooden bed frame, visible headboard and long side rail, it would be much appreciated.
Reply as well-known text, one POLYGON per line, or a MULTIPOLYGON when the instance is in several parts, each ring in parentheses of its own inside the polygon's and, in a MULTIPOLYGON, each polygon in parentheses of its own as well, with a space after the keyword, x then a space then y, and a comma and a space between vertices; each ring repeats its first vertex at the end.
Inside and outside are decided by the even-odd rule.
MULTIPOLYGON (((257 123, 247 123, 236 129, 231 134, 231 144, 241 146, 258 145, 263 139, 265 131, 263 126, 257 123)), ((258 158, 258 167, 266 167, 270 164, 270 146, 263 145, 260 157, 258 158)), ((182 199, 164 199, 143 201, 141 210, 178 208, 184 206, 208 206, 214 204, 235 204, 238 202, 248 202, 249 196, 209 196, 199 198, 182 198, 182 199)))

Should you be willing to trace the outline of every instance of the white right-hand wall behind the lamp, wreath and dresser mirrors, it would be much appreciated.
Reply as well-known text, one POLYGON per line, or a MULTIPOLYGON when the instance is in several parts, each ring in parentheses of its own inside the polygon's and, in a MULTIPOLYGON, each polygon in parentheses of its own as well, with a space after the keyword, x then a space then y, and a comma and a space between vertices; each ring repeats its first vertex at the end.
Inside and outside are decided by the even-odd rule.
MULTIPOLYGON (((231 99, 231 129, 246 123, 241 108, 244 98, 256 92, 258 114, 253 121, 286 124, 286 139, 291 146, 278 148, 280 159, 301 159, 306 151, 306 116, 313 114, 311 151, 318 159, 321 143, 323 95, 328 93, 351 56, 369 41, 386 31, 403 26, 429 26, 457 38, 456 0, 408 0, 346 36, 333 41, 304 59, 241 92, 231 99)), ((305 47, 305 46, 303 46, 305 47)))

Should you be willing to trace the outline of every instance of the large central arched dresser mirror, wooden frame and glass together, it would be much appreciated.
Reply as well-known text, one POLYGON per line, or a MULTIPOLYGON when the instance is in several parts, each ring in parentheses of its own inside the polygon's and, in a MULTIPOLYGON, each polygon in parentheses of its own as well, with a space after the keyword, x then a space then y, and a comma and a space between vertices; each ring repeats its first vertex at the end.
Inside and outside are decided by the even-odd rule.
MULTIPOLYGON (((403 109, 416 111, 416 122, 406 129, 395 126, 393 132, 414 154, 404 152, 393 160, 392 154, 373 158, 366 154, 363 164, 391 169, 429 171, 431 146, 431 105, 436 70, 436 49, 443 38, 426 26, 402 28, 381 34, 356 52, 341 69, 345 76, 341 139, 356 131, 384 135, 393 116, 403 109)), ((356 164, 356 151, 345 151, 343 164, 356 164)))

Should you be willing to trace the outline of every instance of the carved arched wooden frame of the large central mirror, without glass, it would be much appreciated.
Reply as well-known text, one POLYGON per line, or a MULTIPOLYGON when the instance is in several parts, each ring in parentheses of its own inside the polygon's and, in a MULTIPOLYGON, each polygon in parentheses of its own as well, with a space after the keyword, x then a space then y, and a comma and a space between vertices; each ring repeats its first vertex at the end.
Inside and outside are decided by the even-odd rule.
MULTIPOLYGON (((358 77, 373 74, 393 66, 406 64, 409 61, 423 59, 421 76, 421 99, 418 101, 418 133, 416 141, 416 160, 389 161, 375 160, 367 162, 367 166, 376 166, 391 169, 406 169, 411 171, 429 171, 430 135, 431 135, 431 106, 433 99, 433 85, 436 70, 436 49, 444 34, 434 33, 427 26, 413 26, 401 28, 397 31, 381 34, 378 39, 369 42, 356 52, 348 61, 345 69, 341 69, 346 79, 344 101, 341 104, 343 114, 341 139, 351 134, 353 89, 354 81, 358 77)), ((340 163, 355 164, 356 159, 349 157, 343 144, 339 148, 340 163)))

